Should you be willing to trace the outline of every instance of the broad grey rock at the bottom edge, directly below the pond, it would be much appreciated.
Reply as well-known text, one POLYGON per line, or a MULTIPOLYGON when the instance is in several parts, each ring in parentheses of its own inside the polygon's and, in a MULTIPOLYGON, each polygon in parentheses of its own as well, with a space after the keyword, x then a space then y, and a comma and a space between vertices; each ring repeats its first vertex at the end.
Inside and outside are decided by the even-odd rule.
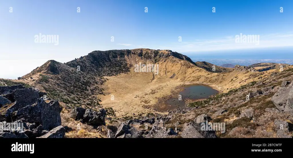
POLYGON ((195 123, 185 123, 181 132, 183 138, 216 138, 215 131, 201 130, 200 126, 195 123))

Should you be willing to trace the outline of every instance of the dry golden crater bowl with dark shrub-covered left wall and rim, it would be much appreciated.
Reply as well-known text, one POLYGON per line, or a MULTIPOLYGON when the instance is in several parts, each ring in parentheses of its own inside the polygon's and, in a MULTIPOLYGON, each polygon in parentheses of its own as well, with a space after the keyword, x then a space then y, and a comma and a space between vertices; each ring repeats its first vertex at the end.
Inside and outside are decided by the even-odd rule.
POLYGON ((65 64, 50 60, 18 81, 46 91, 67 107, 102 106, 123 116, 155 112, 160 98, 172 95, 180 85, 202 83, 225 92, 269 76, 218 66, 215 72, 226 72, 207 70, 212 71, 212 64, 194 63, 171 50, 109 50, 93 51, 65 64), (139 63, 159 65, 158 74, 134 72, 139 63))

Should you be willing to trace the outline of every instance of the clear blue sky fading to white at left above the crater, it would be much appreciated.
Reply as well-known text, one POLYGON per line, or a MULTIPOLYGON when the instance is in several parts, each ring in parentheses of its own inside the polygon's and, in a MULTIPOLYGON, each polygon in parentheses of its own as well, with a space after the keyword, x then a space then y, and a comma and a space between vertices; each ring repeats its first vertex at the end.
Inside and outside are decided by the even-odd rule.
POLYGON ((94 50, 194 55, 293 46, 292 0, 0 0, 0 21, 0 78, 15 79, 47 60, 68 62, 94 50), (40 33, 58 35, 58 45, 35 43, 40 33), (240 33, 260 35, 259 45, 235 43, 240 33))

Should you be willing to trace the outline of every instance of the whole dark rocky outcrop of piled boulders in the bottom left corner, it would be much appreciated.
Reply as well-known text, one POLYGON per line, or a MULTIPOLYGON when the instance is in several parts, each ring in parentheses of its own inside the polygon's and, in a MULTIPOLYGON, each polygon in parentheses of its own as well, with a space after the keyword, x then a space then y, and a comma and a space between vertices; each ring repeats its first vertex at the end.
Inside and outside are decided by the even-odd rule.
POLYGON ((0 107, 0 121, 4 121, 0 124, 18 127, 18 129, 0 127, 1 138, 42 137, 50 132, 55 133, 53 129, 61 126, 62 108, 57 100, 46 103, 43 97, 39 98, 42 92, 21 85, 0 87, 0 89, 1 101, 6 103, 5 106, 0 107))

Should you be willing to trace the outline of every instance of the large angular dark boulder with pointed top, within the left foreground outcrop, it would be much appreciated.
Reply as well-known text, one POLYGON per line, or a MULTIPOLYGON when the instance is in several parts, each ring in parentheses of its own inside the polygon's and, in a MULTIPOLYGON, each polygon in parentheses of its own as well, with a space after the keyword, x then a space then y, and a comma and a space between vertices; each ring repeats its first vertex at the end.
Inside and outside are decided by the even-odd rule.
POLYGON ((25 119, 28 123, 41 124, 45 130, 51 130, 61 125, 59 102, 54 100, 46 103, 43 98, 38 99, 32 106, 26 106, 13 113, 13 120, 25 119))

